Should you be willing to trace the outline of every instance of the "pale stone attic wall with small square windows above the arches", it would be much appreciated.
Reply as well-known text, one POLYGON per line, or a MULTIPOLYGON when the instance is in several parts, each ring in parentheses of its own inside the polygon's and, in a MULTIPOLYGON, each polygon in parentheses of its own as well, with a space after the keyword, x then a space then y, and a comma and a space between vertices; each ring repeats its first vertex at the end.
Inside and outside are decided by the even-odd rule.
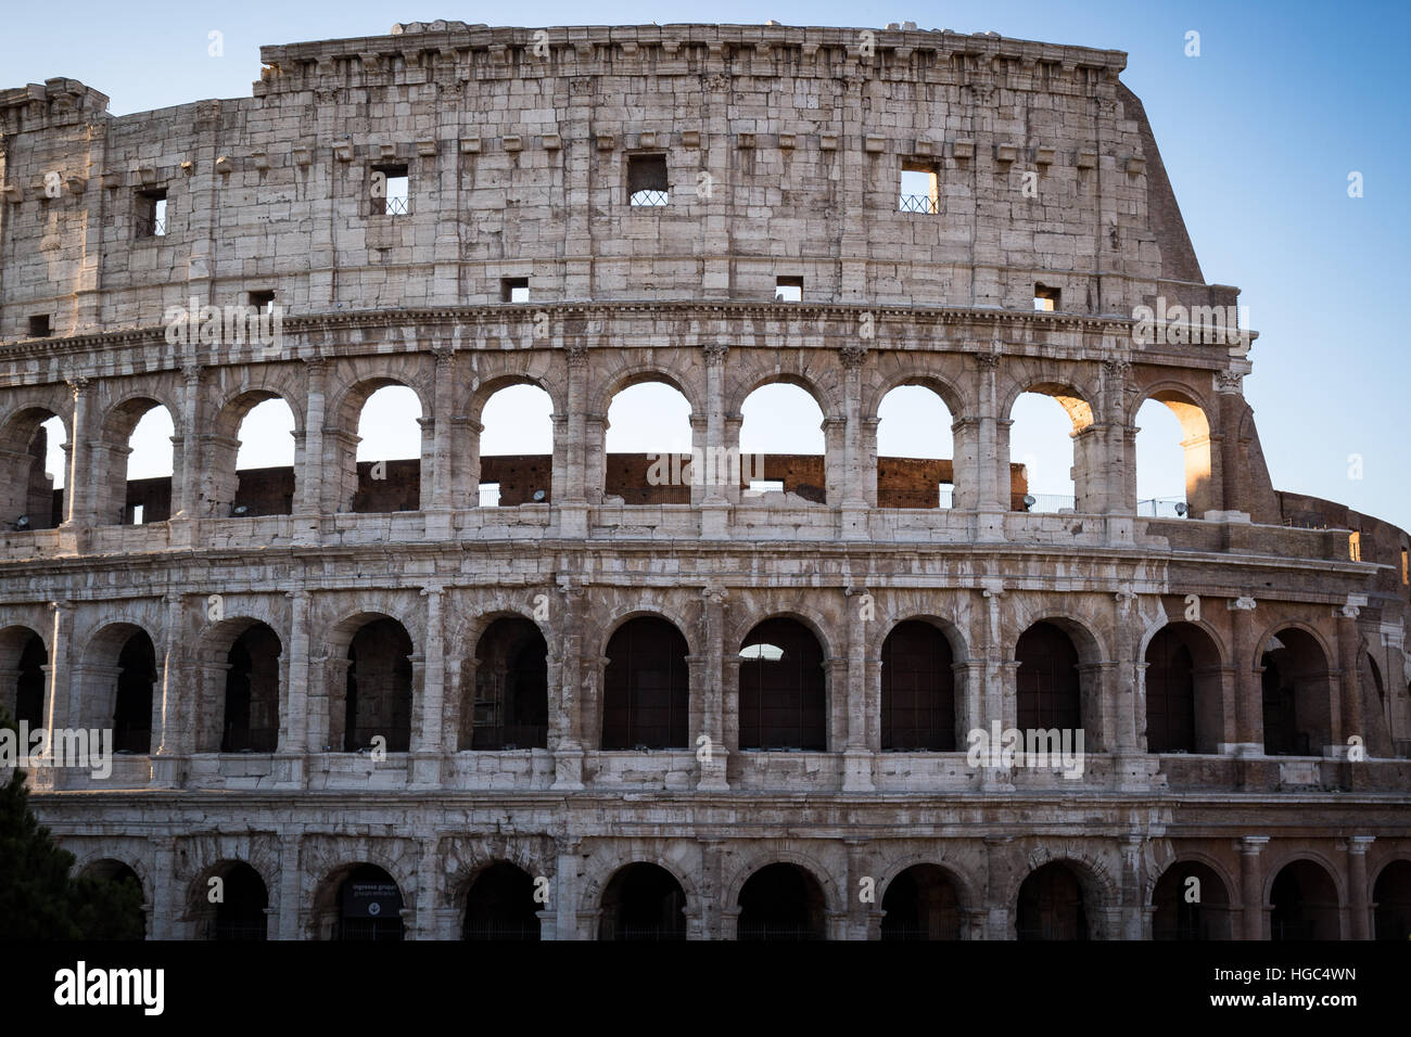
POLYGON ((1116 51, 450 24, 261 56, 254 97, 87 110, 58 137, 0 95, 0 339, 34 312, 69 334, 255 289, 295 315, 484 303, 511 277, 549 301, 772 299, 787 275, 809 301, 1027 312, 1043 282, 1074 313, 1226 302, 1163 284, 1199 271, 1116 51), (660 209, 628 205, 642 152, 666 155, 660 209), (934 164, 934 214, 897 212, 910 161, 934 164), (408 168, 409 216, 373 212, 381 162, 408 168), (45 198, 51 169, 79 186, 45 198), (138 240, 154 189, 168 233, 138 240))

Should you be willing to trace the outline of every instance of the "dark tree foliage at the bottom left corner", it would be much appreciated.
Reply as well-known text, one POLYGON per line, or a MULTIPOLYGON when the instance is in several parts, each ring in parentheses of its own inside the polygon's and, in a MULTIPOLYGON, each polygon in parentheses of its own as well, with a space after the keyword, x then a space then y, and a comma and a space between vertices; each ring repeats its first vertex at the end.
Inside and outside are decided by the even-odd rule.
MULTIPOLYGON (((0 728, 14 729, 3 705, 0 728)), ((0 940, 143 938, 141 889, 130 879, 72 879, 72 866, 73 855, 30 810, 16 769, 0 784, 0 940)))

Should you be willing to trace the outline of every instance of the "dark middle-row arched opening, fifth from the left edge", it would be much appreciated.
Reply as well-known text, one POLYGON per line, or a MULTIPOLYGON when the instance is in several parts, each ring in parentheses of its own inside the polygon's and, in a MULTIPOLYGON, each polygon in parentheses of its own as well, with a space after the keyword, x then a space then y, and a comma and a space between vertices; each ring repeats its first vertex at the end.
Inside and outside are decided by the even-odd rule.
POLYGON ((460 749, 549 745, 549 645, 523 617, 495 619, 476 643, 471 694, 461 696, 460 749))

